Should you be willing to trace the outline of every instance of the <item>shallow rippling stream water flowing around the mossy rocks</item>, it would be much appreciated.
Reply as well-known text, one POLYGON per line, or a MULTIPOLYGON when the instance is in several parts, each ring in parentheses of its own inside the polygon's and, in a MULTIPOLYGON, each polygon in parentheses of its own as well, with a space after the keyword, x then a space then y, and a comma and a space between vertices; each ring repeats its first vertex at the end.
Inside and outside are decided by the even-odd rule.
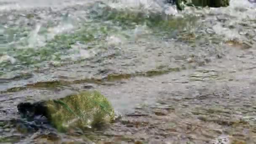
POLYGON ((0 142, 253 144, 255 13, 248 0, 185 11, 161 0, 0 0, 0 142), (122 120, 80 134, 4 126, 21 101, 86 89, 122 120))

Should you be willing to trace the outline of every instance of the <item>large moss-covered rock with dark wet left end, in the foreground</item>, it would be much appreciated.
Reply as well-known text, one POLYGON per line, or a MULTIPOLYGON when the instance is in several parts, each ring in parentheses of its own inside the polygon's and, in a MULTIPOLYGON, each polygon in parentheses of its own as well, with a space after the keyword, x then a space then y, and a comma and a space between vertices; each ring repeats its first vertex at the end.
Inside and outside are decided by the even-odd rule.
POLYGON ((114 118, 114 109, 107 98, 97 91, 83 91, 60 99, 21 103, 18 111, 32 120, 42 115, 59 131, 69 127, 81 129, 101 126, 114 118))

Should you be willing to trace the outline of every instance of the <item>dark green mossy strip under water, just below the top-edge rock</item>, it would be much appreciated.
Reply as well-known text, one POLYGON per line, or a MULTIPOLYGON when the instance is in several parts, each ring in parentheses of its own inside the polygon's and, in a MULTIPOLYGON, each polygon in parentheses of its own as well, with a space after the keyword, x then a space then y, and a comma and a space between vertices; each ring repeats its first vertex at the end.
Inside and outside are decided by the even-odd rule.
MULTIPOLYGON (((93 12, 92 12, 93 13, 93 12)), ((147 24, 153 31, 170 33, 172 30, 183 29, 187 26, 188 21, 197 21, 195 16, 184 16, 183 18, 174 17, 163 13, 145 13, 141 10, 122 10, 105 6, 101 13, 97 13, 94 19, 99 21, 112 21, 123 29, 133 29, 136 25, 147 24)), ((162 33, 160 34, 162 35, 162 33)))

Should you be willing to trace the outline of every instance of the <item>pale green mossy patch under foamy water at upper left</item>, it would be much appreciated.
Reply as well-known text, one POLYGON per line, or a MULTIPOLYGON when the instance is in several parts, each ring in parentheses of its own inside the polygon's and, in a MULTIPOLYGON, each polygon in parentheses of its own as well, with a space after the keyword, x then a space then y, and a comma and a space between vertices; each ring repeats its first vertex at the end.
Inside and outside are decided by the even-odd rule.
MULTIPOLYGON (((72 45, 79 42, 88 45, 89 48, 94 48, 95 45, 105 43, 102 39, 112 31, 116 31, 116 29, 114 30, 114 28, 107 27, 107 24, 95 22, 91 24, 87 22, 71 33, 55 35, 52 40, 46 41, 45 45, 40 48, 29 47, 27 38, 19 40, 19 43, 17 43, 23 48, 16 48, 16 45, 10 45, 5 51, 8 56, 16 59, 16 66, 14 67, 13 64, 10 64, 9 62, 2 63, 0 66, 4 67, 4 73, 7 73, 14 71, 17 67, 19 67, 19 69, 45 67, 48 65, 45 61, 52 61, 57 64, 54 65, 54 67, 61 66, 65 61, 71 61, 72 63, 76 63, 77 61, 80 62, 80 59, 73 60, 69 57, 69 55, 78 52, 71 50, 72 45)), ((46 32, 40 35, 46 35, 46 32)))

